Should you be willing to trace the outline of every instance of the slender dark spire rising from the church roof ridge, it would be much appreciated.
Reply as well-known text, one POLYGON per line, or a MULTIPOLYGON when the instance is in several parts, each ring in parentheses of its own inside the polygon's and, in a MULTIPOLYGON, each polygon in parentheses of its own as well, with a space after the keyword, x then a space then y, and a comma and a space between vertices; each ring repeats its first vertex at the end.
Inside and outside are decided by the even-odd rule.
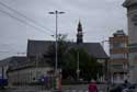
POLYGON ((77 44, 83 43, 83 33, 82 33, 82 25, 79 21, 78 28, 77 28, 77 44))

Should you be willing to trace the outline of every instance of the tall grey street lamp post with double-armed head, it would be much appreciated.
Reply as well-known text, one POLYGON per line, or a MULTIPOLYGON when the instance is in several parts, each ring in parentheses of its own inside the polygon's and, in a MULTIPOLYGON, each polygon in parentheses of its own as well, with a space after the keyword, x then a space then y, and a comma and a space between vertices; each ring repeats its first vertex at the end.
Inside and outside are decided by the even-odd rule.
MULTIPOLYGON (((58 37, 58 14, 64 14, 65 12, 60 12, 60 11, 54 11, 54 12, 49 12, 49 14, 55 14, 56 15, 56 41, 55 41, 55 76, 57 77, 57 70, 58 70, 58 43, 57 43, 57 37, 58 37)), ((56 81, 57 82, 57 81, 56 81)))

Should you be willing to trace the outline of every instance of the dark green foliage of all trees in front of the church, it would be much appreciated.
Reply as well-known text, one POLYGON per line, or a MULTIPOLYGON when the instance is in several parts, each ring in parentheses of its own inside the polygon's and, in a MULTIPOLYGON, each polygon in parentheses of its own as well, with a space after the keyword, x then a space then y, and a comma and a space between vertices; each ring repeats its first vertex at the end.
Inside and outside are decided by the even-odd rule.
MULTIPOLYGON (((96 76, 103 74, 103 66, 96 61, 96 58, 89 56, 82 47, 73 47, 68 49, 66 36, 58 38, 58 68, 62 69, 64 79, 77 79, 77 62, 79 53, 80 78, 83 80, 96 79, 96 76)), ((55 66, 55 44, 52 44, 46 53, 46 61, 50 66, 55 66)))

